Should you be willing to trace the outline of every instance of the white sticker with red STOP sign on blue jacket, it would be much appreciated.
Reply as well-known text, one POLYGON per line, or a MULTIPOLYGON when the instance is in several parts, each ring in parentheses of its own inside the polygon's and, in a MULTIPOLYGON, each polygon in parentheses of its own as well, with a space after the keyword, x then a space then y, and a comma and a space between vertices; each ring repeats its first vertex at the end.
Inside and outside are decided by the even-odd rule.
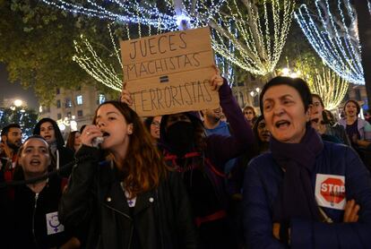
POLYGON ((315 200, 318 206, 344 210, 345 176, 317 174, 315 177, 315 200))

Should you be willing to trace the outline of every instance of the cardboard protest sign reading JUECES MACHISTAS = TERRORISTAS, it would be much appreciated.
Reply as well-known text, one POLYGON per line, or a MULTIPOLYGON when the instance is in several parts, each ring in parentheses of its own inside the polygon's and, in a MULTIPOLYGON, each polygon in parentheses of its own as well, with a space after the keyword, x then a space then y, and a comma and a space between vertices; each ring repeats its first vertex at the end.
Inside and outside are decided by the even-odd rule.
POLYGON ((139 116, 219 107, 209 28, 121 42, 126 90, 139 116))

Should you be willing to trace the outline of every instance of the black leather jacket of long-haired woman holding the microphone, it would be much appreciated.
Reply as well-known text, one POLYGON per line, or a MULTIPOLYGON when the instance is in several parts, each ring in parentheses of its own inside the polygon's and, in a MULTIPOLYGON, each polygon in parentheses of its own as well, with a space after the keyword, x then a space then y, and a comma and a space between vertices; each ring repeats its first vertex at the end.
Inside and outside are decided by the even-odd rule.
POLYGON ((168 172, 157 189, 138 195, 132 214, 116 167, 99 164, 98 154, 87 146, 77 152, 76 158, 91 157, 73 168, 59 206, 66 228, 87 228, 86 248, 131 249, 133 239, 143 249, 197 247, 186 189, 177 174, 168 172))

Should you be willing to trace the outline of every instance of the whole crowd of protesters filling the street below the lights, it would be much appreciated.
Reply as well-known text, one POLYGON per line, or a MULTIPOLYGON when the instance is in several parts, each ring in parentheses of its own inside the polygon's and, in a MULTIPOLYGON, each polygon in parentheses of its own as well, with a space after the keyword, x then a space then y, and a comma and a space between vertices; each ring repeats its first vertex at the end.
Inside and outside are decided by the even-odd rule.
POLYGON ((142 120, 123 90, 65 142, 2 127, 0 248, 368 248, 371 125, 275 77, 260 112, 213 75, 220 107, 142 120), (97 145, 99 141, 99 145, 97 145))

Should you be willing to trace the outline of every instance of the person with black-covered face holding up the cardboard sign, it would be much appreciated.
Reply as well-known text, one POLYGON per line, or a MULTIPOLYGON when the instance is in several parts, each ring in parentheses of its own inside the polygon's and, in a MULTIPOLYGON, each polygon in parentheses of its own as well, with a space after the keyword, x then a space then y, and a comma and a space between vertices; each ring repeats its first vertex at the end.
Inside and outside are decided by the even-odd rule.
MULTIPOLYGON (((211 90, 218 90, 220 107, 234 131, 231 136, 206 136, 203 122, 194 112, 162 116, 160 148, 168 166, 183 177, 191 201, 201 248, 236 248, 227 214, 228 198, 223 174, 226 162, 251 148, 253 133, 232 96, 227 80, 219 73, 211 78, 211 90)), ((122 91, 122 101, 133 103, 122 91)))

